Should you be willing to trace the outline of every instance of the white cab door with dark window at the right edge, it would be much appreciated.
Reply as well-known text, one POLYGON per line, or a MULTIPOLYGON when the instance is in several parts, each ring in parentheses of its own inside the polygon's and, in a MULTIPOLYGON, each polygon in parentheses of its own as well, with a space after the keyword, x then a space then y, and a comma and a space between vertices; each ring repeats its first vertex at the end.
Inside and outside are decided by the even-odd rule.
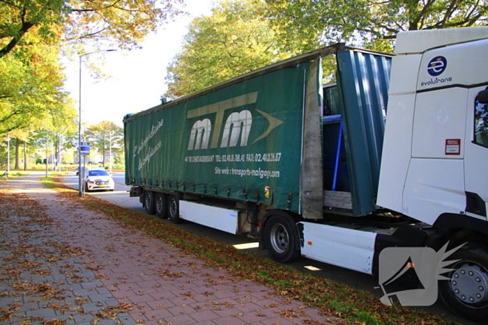
POLYGON ((469 90, 466 104, 464 180, 466 215, 487 219, 488 203, 488 87, 469 90))

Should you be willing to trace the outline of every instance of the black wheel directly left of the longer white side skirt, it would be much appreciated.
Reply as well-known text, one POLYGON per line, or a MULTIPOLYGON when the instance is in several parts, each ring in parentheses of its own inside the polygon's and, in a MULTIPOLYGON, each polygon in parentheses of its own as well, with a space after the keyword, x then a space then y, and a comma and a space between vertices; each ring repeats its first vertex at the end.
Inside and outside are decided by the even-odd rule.
POLYGON ((273 260, 277 262, 291 262, 300 256, 296 247, 298 232, 295 226, 282 216, 270 216, 266 223, 266 248, 273 260))

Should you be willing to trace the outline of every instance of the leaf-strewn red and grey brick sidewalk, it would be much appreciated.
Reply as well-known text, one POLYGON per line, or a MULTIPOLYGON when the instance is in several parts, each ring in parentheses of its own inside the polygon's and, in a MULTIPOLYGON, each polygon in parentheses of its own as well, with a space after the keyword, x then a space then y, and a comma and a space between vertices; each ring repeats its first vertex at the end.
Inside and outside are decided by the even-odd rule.
POLYGON ((0 186, 15 189, 13 200, 0 200, 0 290, 8 292, 0 318, 12 312, 0 324, 331 324, 319 310, 62 200, 36 176, 0 186), (28 271, 15 274, 20 267, 28 271))

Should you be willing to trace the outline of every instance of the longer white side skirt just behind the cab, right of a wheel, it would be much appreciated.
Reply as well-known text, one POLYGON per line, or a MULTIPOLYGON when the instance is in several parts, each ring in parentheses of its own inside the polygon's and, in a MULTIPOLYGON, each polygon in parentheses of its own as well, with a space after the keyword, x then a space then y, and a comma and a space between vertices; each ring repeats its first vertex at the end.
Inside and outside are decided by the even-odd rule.
POLYGON ((299 224, 303 225, 303 256, 372 274, 376 233, 310 222, 299 224))

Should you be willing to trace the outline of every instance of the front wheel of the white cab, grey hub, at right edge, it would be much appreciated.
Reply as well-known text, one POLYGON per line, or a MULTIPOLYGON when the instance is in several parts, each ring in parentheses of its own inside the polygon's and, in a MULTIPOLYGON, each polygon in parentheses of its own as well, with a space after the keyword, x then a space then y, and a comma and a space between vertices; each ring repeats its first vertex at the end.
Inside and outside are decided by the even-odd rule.
POLYGON ((488 249, 486 246, 463 246, 447 260, 450 280, 439 282, 439 294, 450 310, 473 321, 488 317, 488 249))

